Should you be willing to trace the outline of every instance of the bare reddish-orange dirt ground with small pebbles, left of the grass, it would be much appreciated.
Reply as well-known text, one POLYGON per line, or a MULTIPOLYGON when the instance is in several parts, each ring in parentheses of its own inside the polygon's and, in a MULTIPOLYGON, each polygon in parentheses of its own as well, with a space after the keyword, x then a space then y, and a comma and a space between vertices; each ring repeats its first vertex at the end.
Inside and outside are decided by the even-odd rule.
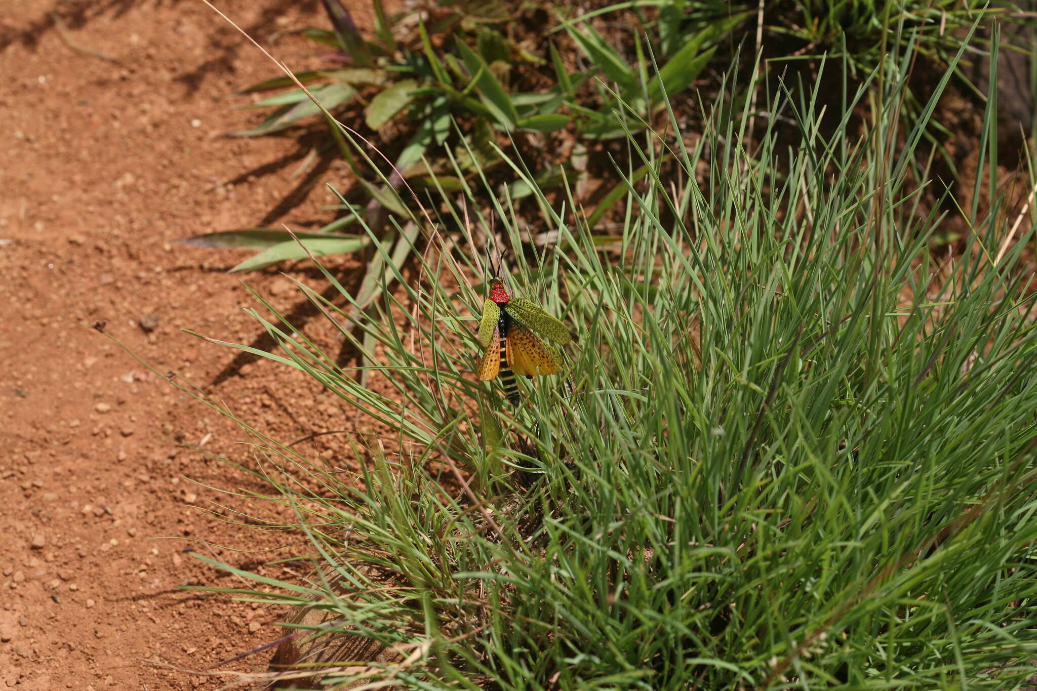
MULTIPOLYGON (((324 22, 316 0, 217 4, 264 45, 324 22)), ((300 68, 319 53, 291 37, 274 51, 300 68)), ((90 327, 279 438, 336 428, 342 411, 306 378, 180 332, 270 346, 226 272, 244 256, 177 240, 333 218, 337 163, 224 136, 259 117, 234 92, 275 69, 196 0, 24 0, 0 16, 0 689, 218 688, 229 680, 181 670, 280 635, 281 610, 178 588, 242 585, 192 549, 292 576, 264 566, 302 549, 265 551, 290 537, 199 510, 228 500, 203 485, 247 486, 209 457, 245 458, 244 435, 90 327)), ((276 270, 246 280, 309 316, 276 270)))

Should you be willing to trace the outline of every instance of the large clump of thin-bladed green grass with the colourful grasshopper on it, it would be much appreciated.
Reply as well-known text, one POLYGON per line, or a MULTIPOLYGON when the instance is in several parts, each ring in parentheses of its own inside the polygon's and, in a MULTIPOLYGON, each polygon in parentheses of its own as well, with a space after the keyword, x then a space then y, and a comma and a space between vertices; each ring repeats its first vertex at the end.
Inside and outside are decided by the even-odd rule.
POLYGON ((272 527, 304 531, 324 575, 233 570, 280 587, 235 593, 398 650, 313 670, 332 687, 1021 684, 1037 652, 1033 224, 1008 235, 1018 211, 991 200, 960 211, 962 255, 930 254, 944 218, 920 202, 916 148, 946 79, 898 131, 910 50, 884 65, 856 141, 870 84, 844 94, 831 138, 816 89, 767 104, 782 117, 757 122, 752 150, 748 111, 718 108, 691 148, 630 135, 619 172, 647 173, 611 247, 516 163, 549 248, 522 250, 507 198, 491 222, 466 215, 470 188, 441 190, 435 230, 397 228, 429 241, 413 271, 368 232, 398 289, 360 305, 339 286, 340 310, 303 288, 363 367, 255 313, 282 346, 269 356, 356 407, 361 462, 343 474, 257 434, 269 498, 298 517, 272 527), (779 145, 789 126, 796 148, 779 145), (664 159, 680 174, 661 177, 664 159), (524 386, 515 410, 472 374, 486 276, 470 226, 501 229, 487 236, 513 250, 514 292, 580 332, 566 375, 524 386))

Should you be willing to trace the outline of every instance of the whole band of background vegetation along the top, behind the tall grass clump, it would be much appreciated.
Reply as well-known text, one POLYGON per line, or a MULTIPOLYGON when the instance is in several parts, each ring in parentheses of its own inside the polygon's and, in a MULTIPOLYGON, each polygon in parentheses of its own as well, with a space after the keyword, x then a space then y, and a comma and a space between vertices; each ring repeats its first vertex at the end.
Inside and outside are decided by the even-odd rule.
MULTIPOLYGON (((368 40, 340 0, 323 0, 323 6, 331 28, 301 33, 336 52, 327 68, 295 75, 320 106, 291 78, 264 80, 245 93, 277 91, 249 106, 269 115, 234 134, 327 132, 325 146, 347 162, 356 184, 345 195, 341 215, 318 229, 292 236, 282 229, 253 228, 188 240, 257 251, 231 270, 257 270, 308 254, 370 256, 364 234, 346 232, 356 219, 349 204, 366 205, 368 222, 391 232, 386 213, 405 219, 417 209, 411 195, 397 194, 404 179, 426 203, 426 191, 436 185, 475 190, 484 209, 491 194, 506 194, 529 225, 543 209, 530 186, 513 178, 498 147, 510 148, 514 163, 553 198, 568 184, 573 201, 591 211, 587 220, 595 232, 609 235, 613 226, 601 222, 618 221, 626 193, 613 162, 620 168, 636 162, 624 145, 626 133, 651 128, 665 136, 672 116, 682 132, 697 135, 701 103, 717 97, 729 98, 735 111, 747 104, 758 111, 759 94, 742 87, 725 95, 717 79, 737 71, 740 83, 747 83, 745 76, 757 70, 757 50, 765 58, 760 68, 770 74, 791 61, 809 64, 813 79, 822 58, 845 61, 852 88, 872 83, 867 80, 879 59, 907 44, 914 56, 946 65, 972 26, 987 26, 999 17, 1024 19, 1011 3, 991 6, 980 0, 763 5, 652 0, 592 5, 579 16, 564 7, 503 0, 464 0, 389 15, 381 0, 373 0, 375 26, 368 40), (693 85, 700 89, 698 97, 681 95, 693 85), (372 161, 355 150, 321 107, 358 135, 382 139, 380 148, 389 160, 372 161), (481 176, 493 186, 485 194, 481 176)), ((755 89, 758 82, 753 84, 755 89)), ((794 80, 785 84, 797 88, 794 80)), ((918 118, 920 108, 908 93, 903 113, 918 118)), ((927 137, 953 171, 954 162, 933 134, 941 128, 937 119, 927 122, 927 137)), ((635 168, 633 181, 645 184, 647 168, 635 168)), ((667 173, 679 170, 671 163, 667 173)), ((550 236, 529 233, 525 238, 542 243, 550 236)))

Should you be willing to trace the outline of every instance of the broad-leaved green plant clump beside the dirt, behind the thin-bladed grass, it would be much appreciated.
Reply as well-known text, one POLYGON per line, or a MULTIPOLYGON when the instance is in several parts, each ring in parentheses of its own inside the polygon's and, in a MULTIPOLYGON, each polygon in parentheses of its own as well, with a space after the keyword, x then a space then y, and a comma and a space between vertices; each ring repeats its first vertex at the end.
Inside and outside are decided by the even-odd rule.
MULTIPOLYGON (((382 147, 392 163, 387 166, 358 153, 337 127, 330 127, 357 182, 349 193, 352 203, 367 203, 368 208, 383 208, 401 219, 410 213, 409 206, 416 208, 410 195, 398 194, 403 180, 417 190, 438 185, 456 192, 481 190, 480 178, 487 176, 513 202, 527 200, 535 209, 535 195, 525 182, 511 179, 508 161, 498 147, 513 147, 517 163, 542 190, 560 189, 567 177, 587 178, 588 146, 621 139, 626 131, 656 120, 665 109, 662 94, 689 88, 718 41, 748 17, 714 12, 710 17, 716 21, 706 25, 703 18, 688 24, 682 16, 674 16, 656 27, 652 39, 638 44, 632 64, 629 56, 594 29, 593 17, 566 20, 544 8, 512 8, 495 1, 388 17, 375 0, 374 39, 368 41, 338 0, 325 0, 324 5, 334 30, 304 33, 336 48, 336 60, 346 60, 347 66, 298 73, 295 79, 281 77, 248 87, 246 93, 287 90, 252 104, 271 113, 258 125, 235 134, 253 137, 327 128, 330 120, 321 117, 321 108, 348 123, 358 136, 377 140, 380 132, 391 131, 382 147), (508 37, 505 22, 522 27, 536 40, 508 37), (540 40, 539 32, 554 22, 555 38, 567 37, 564 55, 557 40, 540 40), (651 60, 658 65, 658 79, 649 81, 642 92, 651 60), (296 80, 306 88, 295 87, 296 80)), ((599 200, 598 218, 622 195, 615 180, 609 188, 611 192, 606 190, 599 200)), ((484 205, 486 199, 480 196, 479 201, 484 205)), ((362 236, 342 233, 356 218, 348 205, 343 203, 342 218, 300 236, 301 243, 283 230, 268 228, 207 233, 188 242, 262 251, 232 269, 239 271, 304 258, 303 246, 317 256, 355 252, 368 246, 362 236)))

